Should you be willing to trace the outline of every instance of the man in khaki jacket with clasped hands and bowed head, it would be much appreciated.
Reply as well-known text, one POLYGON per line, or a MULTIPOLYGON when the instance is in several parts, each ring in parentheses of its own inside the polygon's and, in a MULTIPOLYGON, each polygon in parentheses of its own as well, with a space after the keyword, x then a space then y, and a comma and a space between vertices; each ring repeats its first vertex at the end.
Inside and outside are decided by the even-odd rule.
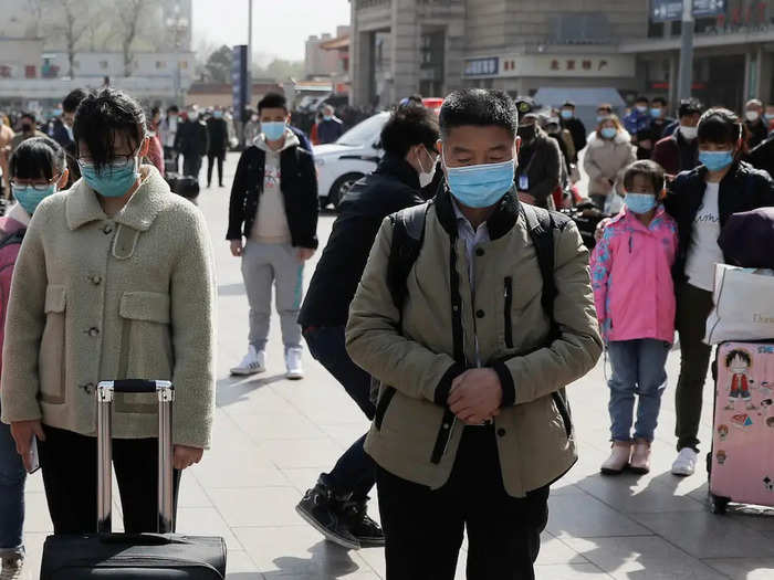
POLYGON ((381 381, 366 451, 377 463, 390 580, 533 579, 548 486, 575 463, 559 391, 602 352, 588 253, 554 214, 553 323, 513 188, 517 115, 503 93, 454 92, 440 113, 447 190, 430 202, 401 312, 384 222, 347 325, 381 381))

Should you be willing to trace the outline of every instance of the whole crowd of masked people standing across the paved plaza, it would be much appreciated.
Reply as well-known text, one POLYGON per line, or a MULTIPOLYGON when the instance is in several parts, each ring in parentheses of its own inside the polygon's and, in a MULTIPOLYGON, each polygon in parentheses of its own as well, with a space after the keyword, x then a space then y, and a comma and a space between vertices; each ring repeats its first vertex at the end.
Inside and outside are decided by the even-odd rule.
MULTIPOLYGON (((325 106, 310 139, 286 98, 265 95, 230 183, 226 239, 250 327, 231 372, 266 370, 274 291, 286 377, 304 377, 305 342, 370 421, 297 513, 346 548, 385 547, 389 579, 451 580, 464 529, 470 578, 534 578, 550 486, 577 461, 565 387, 607 350, 600 471, 648 473, 676 333, 672 473, 691 475, 712 272, 726 261, 718 238, 732 214, 774 207, 768 110, 751 101, 742 118, 687 99, 671 119, 663 99, 638 98, 623 120, 600 104, 589 133, 572 102, 462 89, 436 114, 409 97, 384 126, 376 170, 342 200, 304 296, 318 249, 312 144, 344 123, 325 106), (590 255, 571 215, 547 211, 584 204, 610 214, 590 255), (368 516, 374 487, 381 525, 368 516)), ((23 562, 35 444, 54 532, 93 531, 101 380, 175 382, 175 497, 211 441, 212 249, 201 212, 164 176, 182 157, 198 179, 206 156, 208 187, 216 169, 226 187, 229 112, 146 116, 108 87, 74 91, 57 113, 0 128, 17 202, 0 219, 2 578, 23 562)), ((129 532, 156 526, 155 409, 117 396, 129 532)))

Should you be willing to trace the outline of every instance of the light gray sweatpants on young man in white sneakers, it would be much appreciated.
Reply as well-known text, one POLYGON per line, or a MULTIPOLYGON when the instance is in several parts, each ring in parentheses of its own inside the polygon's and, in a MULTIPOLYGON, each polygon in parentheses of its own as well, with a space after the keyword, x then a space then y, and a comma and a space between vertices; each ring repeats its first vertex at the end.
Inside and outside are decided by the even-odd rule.
POLYGON ((304 264, 290 244, 261 244, 248 241, 242 254, 242 277, 250 303, 250 344, 264 350, 271 319, 272 283, 276 286, 276 312, 282 341, 287 348, 301 347, 299 310, 304 283, 304 264))

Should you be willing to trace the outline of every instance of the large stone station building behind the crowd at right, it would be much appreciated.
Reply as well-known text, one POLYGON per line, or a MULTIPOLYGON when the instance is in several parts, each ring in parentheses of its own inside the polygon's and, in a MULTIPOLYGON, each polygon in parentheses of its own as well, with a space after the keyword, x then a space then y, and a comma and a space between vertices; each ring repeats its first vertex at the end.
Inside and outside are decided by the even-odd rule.
MULTIPOLYGON (((479 86, 589 110, 639 93, 676 103, 680 22, 656 22, 663 3, 352 0, 352 102, 387 106, 479 86)), ((717 14, 697 19, 694 96, 735 108, 772 99, 774 0, 713 6, 717 14)))

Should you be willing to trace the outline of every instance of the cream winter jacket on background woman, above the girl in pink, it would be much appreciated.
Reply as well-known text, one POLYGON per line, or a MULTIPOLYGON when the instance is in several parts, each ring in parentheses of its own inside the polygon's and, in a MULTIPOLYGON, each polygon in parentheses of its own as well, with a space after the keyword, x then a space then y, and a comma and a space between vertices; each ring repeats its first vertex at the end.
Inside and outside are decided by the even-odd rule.
POLYGON ((619 130, 613 139, 603 139, 594 134, 588 139, 583 159, 583 168, 588 175, 588 194, 611 193, 613 187, 607 180, 617 181, 620 171, 636 160, 631 137, 625 130, 619 130))

